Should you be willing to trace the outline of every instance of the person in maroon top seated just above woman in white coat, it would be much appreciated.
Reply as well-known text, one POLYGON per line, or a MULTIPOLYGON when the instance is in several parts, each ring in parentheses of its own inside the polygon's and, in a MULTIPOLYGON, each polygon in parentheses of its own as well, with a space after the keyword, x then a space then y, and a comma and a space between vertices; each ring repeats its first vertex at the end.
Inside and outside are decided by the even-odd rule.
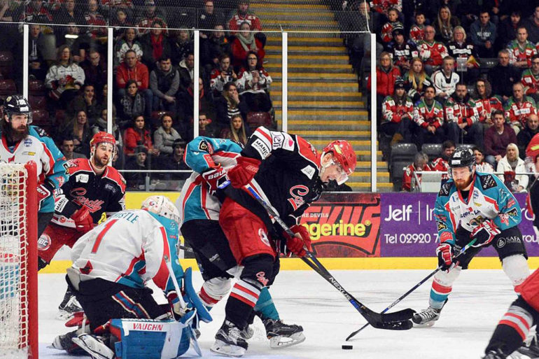
POLYGON ((496 168, 496 163, 505 156, 509 143, 517 143, 517 135, 510 125, 505 123, 503 111, 494 111, 492 115, 493 126, 484 134, 484 149, 486 162, 496 168))

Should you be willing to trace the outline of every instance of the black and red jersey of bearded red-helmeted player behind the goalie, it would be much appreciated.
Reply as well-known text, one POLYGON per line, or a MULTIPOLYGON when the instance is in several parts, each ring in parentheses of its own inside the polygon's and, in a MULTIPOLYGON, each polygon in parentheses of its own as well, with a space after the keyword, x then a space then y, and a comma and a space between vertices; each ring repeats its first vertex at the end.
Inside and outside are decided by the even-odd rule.
POLYGON ((93 223, 103 220, 104 214, 110 216, 125 209, 125 180, 115 168, 107 166, 98 176, 85 158, 69 160, 64 167, 69 179, 55 192, 52 223, 75 227, 69 217, 82 206, 90 211, 93 223))

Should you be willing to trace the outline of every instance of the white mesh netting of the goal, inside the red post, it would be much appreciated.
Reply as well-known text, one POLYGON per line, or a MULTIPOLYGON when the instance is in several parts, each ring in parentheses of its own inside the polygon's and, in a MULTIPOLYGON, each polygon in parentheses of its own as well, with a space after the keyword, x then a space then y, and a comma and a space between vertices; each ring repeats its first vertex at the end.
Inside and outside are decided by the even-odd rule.
POLYGON ((0 358, 27 358, 27 169, 0 164, 0 358))

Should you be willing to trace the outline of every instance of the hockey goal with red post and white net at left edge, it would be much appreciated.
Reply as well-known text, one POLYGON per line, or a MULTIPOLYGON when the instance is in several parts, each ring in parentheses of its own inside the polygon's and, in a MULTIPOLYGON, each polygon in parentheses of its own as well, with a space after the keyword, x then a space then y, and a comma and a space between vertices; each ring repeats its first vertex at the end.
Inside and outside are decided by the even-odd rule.
POLYGON ((36 165, 0 163, 0 359, 38 358, 36 165))

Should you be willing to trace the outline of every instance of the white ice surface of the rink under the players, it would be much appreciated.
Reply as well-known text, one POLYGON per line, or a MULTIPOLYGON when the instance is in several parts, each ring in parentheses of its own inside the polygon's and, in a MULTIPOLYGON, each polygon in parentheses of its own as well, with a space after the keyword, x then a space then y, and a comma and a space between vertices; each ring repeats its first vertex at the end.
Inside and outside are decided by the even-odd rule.
MULTIPOLYGON (((423 279, 426 270, 349 270, 331 271, 335 278, 360 302, 382 311, 409 288, 423 279)), ((202 279, 195 272, 195 288, 202 279)), ((62 274, 39 274, 40 358, 81 358, 48 349, 52 339, 71 330, 55 320, 57 306, 66 285, 62 274)), ((430 281, 424 283, 394 309, 423 309, 428 305, 430 281)), ((371 327, 344 342, 365 324, 363 317, 329 283, 311 271, 283 271, 270 289, 283 321, 303 326, 305 342, 285 349, 270 349, 263 325, 255 318, 255 335, 244 358, 360 358, 360 359, 463 359, 480 358, 489 338, 510 303, 516 299, 510 281, 502 270, 463 271, 453 293, 432 328, 405 331, 371 327), (341 349, 352 344, 352 350, 341 349)), ((212 323, 202 323, 199 339, 203 358, 224 358, 209 351, 224 317, 225 301, 212 311, 212 323)), ((182 358, 195 358, 193 349, 182 358)))

